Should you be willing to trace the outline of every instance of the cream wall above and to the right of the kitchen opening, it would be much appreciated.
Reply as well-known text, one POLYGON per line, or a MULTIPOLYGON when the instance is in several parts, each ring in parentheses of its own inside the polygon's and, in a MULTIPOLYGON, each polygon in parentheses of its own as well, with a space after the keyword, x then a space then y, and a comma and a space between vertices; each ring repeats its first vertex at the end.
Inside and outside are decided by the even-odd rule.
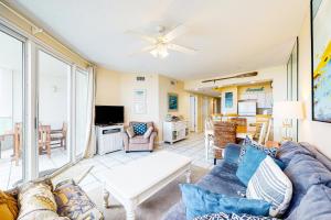
MULTIPOLYGON (((199 79, 199 80, 189 80, 185 81, 184 89, 194 91, 196 89, 201 88, 212 88, 212 87, 224 87, 229 85, 236 85, 236 84, 247 84, 250 81, 273 81, 273 100, 274 101, 284 101, 286 100, 286 76, 287 76, 287 69, 286 65, 284 66, 275 66, 270 68, 264 68, 258 69, 258 75, 255 77, 249 78, 235 78, 235 79, 226 79, 209 84, 203 84, 202 80, 205 79, 199 79)), ((223 76, 224 77, 224 76, 223 76)), ((213 77, 217 78, 217 77, 213 77)), ((274 139, 279 141, 281 140, 281 120, 274 120, 274 139)))

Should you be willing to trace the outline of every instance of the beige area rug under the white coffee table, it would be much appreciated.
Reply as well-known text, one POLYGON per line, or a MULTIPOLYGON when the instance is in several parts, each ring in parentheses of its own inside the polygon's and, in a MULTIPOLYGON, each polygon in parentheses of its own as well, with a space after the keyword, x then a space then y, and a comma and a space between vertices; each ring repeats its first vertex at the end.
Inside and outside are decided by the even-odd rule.
MULTIPOLYGON (((195 183, 209 170, 197 166, 192 167, 192 183, 195 183)), ((170 183, 162 190, 142 202, 136 210, 137 220, 159 220, 169 210, 169 208, 178 202, 181 198, 179 184, 185 183, 185 176, 179 177, 170 183)), ((125 220, 125 209, 118 201, 110 196, 109 209, 103 207, 103 189, 97 188, 87 191, 90 199, 97 205, 99 210, 105 215, 106 220, 125 220)))

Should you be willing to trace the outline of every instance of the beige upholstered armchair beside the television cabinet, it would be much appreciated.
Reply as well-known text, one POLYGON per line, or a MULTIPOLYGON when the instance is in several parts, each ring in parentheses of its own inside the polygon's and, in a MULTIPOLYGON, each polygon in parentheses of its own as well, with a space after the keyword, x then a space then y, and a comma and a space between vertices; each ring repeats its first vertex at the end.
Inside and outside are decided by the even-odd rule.
POLYGON ((154 128, 153 122, 146 122, 147 129, 151 128, 151 132, 143 134, 136 134, 134 132, 135 124, 141 124, 145 122, 130 122, 129 128, 124 132, 122 140, 126 153, 129 152, 141 152, 149 151, 152 152, 154 147, 154 140, 158 135, 157 129, 154 128), (132 133, 134 132, 134 133, 132 133))

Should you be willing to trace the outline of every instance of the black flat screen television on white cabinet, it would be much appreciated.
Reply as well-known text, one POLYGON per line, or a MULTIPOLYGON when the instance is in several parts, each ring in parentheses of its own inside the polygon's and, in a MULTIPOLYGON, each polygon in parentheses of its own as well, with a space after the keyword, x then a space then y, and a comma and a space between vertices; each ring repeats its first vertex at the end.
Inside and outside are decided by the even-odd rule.
POLYGON ((124 123, 122 106, 96 106, 95 124, 117 124, 124 123))

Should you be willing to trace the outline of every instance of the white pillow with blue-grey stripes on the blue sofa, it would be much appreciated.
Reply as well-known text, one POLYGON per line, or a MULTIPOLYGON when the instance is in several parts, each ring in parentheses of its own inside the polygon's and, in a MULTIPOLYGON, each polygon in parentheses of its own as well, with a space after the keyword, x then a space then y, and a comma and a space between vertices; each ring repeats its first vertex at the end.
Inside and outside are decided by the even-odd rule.
POLYGON ((248 182, 246 198, 261 199, 271 204, 269 215, 281 216, 292 197, 292 184, 270 156, 259 164, 248 182))

